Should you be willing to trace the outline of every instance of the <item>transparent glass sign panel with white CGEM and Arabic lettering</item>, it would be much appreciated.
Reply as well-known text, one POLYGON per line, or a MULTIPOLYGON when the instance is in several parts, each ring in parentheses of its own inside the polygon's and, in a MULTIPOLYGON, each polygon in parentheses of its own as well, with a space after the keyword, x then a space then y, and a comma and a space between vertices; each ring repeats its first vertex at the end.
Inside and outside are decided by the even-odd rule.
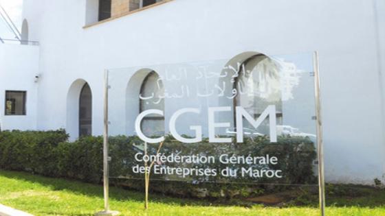
POLYGON ((113 180, 142 187, 148 171, 175 194, 318 185, 313 53, 109 69, 108 84, 113 180))

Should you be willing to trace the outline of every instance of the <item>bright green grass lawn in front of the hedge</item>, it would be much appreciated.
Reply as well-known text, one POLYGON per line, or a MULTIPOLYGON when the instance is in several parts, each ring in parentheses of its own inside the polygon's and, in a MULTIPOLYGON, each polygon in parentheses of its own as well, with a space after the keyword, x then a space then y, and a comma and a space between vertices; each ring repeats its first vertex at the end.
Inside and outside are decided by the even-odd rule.
MULTIPOLYGON (((150 195, 144 210, 144 195, 111 187, 111 209, 122 215, 319 215, 316 199, 298 197, 306 206, 250 207, 212 205, 205 200, 187 200, 150 195)), ((0 170, 0 203, 34 215, 93 215, 103 208, 102 187, 95 184, 29 173, 0 170)), ((385 215, 385 191, 366 187, 328 188, 327 215, 385 215)))

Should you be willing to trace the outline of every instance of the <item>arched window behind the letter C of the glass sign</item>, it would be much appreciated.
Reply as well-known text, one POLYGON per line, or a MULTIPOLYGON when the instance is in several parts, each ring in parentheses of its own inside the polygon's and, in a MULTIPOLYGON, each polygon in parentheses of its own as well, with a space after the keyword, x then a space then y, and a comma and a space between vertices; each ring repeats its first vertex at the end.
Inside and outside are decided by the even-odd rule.
MULTIPOLYGON (((164 87, 159 75, 151 71, 146 75, 140 87, 139 110, 157 109, 164 110, 164 87)), ((146 136, 164 134, 164 117, 147 115, 142 120, 142 132, 146 136)))

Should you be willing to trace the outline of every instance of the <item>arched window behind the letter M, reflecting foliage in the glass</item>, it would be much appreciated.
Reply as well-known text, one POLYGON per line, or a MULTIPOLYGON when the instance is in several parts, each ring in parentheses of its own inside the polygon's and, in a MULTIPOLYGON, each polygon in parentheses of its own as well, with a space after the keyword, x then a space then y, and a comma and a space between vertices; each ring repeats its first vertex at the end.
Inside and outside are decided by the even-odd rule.
MULTIPOLYGON (((278 64, 263 54, 257 54, 238 65, 238 76, 233 83, 233 88, 237 92, 234 97, 234 106, 242 106, 254 119, 257 119, 267 106, 275 105, 277 125, 281 125, 283 115, 278 64)), ((235 123, 234 114, 234 125, 235 123)), ((256 132, 268 134, 268 123, 269 121, 265 119, 256 132)), ((254 130, 248 121, 243 122, 243 127, 246 128, 245 130, 250 128, 250 132, 254 130)))

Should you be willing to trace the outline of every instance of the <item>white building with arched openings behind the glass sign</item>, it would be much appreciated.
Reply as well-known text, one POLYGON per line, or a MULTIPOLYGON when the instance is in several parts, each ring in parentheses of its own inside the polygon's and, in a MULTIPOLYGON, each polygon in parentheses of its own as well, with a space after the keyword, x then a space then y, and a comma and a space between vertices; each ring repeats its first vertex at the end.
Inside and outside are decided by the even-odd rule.
POLYGON ((318 51, 327 182, 385 182, 384 11, 382 0, 24 0, 22 38, 39 45, 0 42, 1 130, 102 134, 104 69, 318 51))

